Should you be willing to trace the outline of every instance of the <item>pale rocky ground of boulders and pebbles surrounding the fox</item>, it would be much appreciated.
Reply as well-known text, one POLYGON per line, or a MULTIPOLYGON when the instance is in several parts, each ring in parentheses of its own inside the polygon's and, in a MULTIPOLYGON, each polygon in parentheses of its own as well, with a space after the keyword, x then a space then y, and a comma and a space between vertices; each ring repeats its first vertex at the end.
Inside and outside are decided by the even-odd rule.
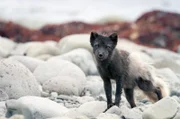
MULTIPOLYGON (((179 119, 180 55, 119 39, 117 48, 136 52, 168 83, 170 96, 152 103, 136 90, 131 109, 124 94, 107 112, 89 34, 59 42, 15 43, 0 37, 0 119, 179 119), (76 42, 74 42, 76 41, 76 42)), ((115 85, 113 83, 113 98, 115 85)))

